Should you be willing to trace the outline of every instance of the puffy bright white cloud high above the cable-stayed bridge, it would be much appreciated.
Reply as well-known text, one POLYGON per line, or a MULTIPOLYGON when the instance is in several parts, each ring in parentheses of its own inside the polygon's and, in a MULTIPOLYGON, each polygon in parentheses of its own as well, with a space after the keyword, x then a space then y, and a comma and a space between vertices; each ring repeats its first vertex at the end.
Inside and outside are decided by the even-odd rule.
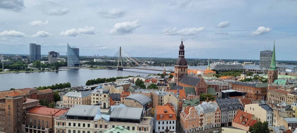
POLYGON ((113 29, 109 31, 110 34, 117 34, 117 35, 124 35, 124 34, 129 34, 133 33, 134 30, 139 28, 141 26, 140 20, 135 20, 133 22, 121 22, 121 23, 116 23, 113 26, 113 29))

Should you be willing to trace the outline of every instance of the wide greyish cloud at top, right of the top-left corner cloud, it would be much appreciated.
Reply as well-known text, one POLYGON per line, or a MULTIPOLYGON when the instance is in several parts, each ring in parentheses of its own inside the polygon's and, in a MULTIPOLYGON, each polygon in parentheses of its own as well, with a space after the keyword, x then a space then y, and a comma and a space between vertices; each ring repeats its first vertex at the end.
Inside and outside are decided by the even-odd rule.
POLYGON ((40 5, 37 5, 44 14, 62 16, 69 12, 67 7, 62 7, 59 3, 52 1, 43 1, 40 5))

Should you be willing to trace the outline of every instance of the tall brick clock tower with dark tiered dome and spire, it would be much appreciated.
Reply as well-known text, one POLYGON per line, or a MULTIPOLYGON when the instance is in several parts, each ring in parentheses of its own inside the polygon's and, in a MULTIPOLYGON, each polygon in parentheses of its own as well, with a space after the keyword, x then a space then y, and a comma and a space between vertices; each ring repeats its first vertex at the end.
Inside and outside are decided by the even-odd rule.
POLYGON ((178 58, 174 65, 174 82, 178 85, 178 81, 183 75, 188 75, 188 64, 185 59, 185 50, 183 44, 183 38, 181 38, 181 45, 179 46, 178 58))

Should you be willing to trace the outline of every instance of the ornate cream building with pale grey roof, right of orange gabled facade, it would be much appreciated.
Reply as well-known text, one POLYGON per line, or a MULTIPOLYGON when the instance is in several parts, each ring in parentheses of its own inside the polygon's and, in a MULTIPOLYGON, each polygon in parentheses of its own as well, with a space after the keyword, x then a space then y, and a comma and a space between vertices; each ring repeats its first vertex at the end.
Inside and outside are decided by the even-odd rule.
POLYGON ((216 103, 211 101, 208 103, 202 102, 196 107, 196 110, 197 114, 199 114, 198 130, 211 129, 221 126, 221 110, 216 103))

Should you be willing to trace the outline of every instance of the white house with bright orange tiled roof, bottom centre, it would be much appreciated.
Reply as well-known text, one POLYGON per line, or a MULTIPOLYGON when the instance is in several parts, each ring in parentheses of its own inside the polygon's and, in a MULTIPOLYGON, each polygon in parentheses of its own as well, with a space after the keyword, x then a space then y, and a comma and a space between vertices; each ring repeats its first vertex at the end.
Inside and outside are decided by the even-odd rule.
POLYGON ((155 133, 176 132, 176 113, 170 104, 156 106, 154 118, 155 133))

